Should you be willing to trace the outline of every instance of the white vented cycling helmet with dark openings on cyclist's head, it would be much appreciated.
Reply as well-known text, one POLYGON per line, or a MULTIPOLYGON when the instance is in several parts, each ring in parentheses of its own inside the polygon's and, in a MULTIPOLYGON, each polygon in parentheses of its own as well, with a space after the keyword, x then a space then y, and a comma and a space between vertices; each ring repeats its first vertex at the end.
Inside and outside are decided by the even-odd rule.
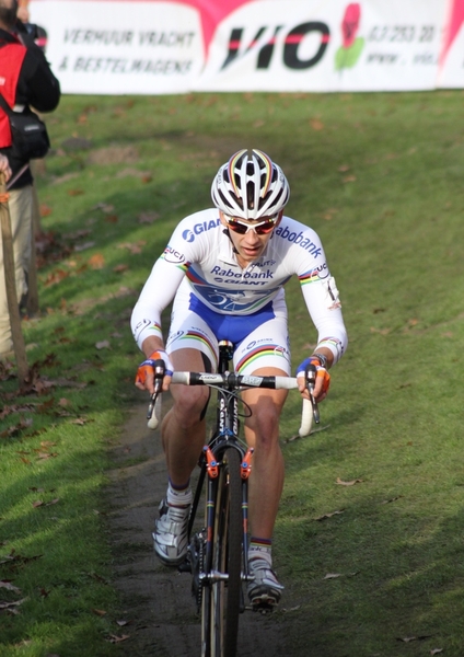
POLYGON ((211 185, 214 206, 230 217, 256 221, 277 215, 288 203, 283 171, 263 151, 241 150, 222 164, 211 185))

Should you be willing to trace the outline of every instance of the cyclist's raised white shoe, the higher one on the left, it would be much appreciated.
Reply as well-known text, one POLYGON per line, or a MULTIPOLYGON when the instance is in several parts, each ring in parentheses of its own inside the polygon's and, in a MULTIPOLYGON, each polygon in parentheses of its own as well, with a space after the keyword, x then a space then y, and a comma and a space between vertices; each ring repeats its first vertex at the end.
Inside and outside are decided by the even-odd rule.
POLYGON ((160 504, 152 537, 154 552, 166 566, 178 566, 187 555, 189 512, 190 505, 170 506, 166 499, 160 504))

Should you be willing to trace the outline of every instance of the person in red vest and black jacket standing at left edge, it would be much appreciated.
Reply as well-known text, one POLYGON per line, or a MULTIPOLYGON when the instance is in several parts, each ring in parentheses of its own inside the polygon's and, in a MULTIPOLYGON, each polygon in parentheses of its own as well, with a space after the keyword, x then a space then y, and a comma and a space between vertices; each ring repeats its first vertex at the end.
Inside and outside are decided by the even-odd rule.
MULTIPOLYGON (((51 112, 58 106, 60 87, 45 59, 43 50, 21 27, 16 18, 18 1, 0 0, 0 93, 15 112, 30 106, 38 112, 51 112)), ((0 153, 8 157, 12 170, 10 181, 10 218, 13 234, 16 293, 27 295, 27 273, 32 249, 33 177, 30 162, 15 152, 11 141, 10 122, 0 107, 0 153)), ((13 348, 10 316, 3 275, 3 252, 0 250, 0 356, 13 348)))

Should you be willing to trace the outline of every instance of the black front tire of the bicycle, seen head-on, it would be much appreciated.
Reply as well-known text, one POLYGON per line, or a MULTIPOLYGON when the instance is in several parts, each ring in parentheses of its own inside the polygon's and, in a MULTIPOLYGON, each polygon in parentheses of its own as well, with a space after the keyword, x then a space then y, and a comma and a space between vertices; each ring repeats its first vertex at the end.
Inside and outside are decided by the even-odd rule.
POLYGON ((242 595, 242 479, 241 459, 225 448, 217 487, 212 570, 227 573, 227 581, 211 581, 204 590, 204 646, 206 657, 235 657, 242 595))

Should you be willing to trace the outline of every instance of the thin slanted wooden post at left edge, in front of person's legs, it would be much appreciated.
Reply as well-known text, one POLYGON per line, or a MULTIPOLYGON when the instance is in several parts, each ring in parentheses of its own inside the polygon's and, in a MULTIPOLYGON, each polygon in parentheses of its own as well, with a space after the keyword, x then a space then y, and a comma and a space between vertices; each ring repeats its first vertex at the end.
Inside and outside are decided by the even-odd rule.
POLYGON ((0 221, 3 246, 3 275, 7 288, 14 356, 16 358, 18 379, 21 388, 28 378, 28 366, 24 337, 21 330, 20 308, 18 304, 16 281, 14 276, 13 235, 11 232, 10 208, 8 206, 8 194, 4 185, 3 172, 0 172, 0 221))

